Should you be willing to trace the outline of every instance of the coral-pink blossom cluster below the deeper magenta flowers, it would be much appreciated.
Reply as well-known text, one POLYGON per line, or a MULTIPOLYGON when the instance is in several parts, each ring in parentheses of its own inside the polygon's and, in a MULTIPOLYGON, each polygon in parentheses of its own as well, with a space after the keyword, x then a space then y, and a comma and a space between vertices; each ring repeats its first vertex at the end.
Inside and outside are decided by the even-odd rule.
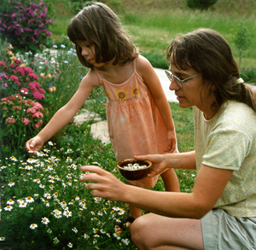
POLYGON ((42 118, 44 115, 42 111, 44 108, 39 102, 34 102, 31 99, 24 99, 24 97, 16 95, 3 97, 0 100, 0 106, 3 107, 2 112, 8 117, 5 121, 9 125, 20 120, 21 110, 24 110, 23 115, 21 115, 21 122, 24 125, 32 123, 34 129, 38 129, 43 125, 42 118))

